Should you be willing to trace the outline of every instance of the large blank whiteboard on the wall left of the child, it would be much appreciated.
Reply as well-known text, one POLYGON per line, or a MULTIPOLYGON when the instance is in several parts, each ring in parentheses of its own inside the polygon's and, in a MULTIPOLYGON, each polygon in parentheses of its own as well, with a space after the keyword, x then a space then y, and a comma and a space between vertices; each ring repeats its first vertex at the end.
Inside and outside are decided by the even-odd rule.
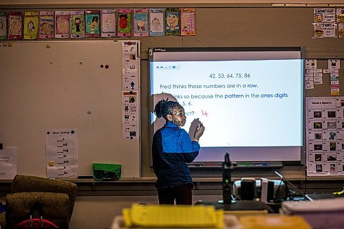
POLYGON ((45 177, 46 131, 74 128, 79 176, 97 162, 140 177, 140 140, 122 138, 122 41, 3 42, 0 56, 0 142, 18 174, 45 177))

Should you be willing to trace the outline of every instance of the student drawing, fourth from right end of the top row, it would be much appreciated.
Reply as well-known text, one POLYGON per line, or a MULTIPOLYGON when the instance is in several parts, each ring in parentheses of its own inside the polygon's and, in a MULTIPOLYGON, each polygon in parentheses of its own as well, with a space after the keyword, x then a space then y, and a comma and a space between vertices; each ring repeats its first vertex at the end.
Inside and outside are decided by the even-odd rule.
POLYGON ((148 10, 133 10, 133 36, 148 36, 148 10))

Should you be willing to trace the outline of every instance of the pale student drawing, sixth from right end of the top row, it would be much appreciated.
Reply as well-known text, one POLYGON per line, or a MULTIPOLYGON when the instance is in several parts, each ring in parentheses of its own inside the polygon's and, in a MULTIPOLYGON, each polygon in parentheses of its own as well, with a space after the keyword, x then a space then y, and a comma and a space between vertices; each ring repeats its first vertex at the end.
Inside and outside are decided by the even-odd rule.
POLYGON ((102 19, 101 37, 115 37, 116 36, 116 10, 115 9, 102 10, 100 18, 102 19))

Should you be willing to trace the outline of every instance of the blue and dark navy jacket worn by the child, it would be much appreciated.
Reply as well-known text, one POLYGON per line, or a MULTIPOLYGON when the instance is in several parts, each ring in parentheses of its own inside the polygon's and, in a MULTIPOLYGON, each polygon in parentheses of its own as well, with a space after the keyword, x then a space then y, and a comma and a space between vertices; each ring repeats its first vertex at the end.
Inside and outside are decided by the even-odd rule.
POLYGON ((155 187, 160 189, 193 184, 186 163, 193 162, 199 151, 200 144, 192 142, 184 129, 166 122, 153 136, 153 169, 158 177, 155 187))

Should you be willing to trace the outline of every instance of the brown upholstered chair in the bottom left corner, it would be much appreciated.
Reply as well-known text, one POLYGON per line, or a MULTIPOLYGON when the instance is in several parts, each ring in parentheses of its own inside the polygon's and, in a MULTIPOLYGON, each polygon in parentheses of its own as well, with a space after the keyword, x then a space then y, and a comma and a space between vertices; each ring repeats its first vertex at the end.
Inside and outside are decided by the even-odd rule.
POLYGON ((58 179, 16 175, 11 193, 6 196, 6 228, 16 228, 22 221, 40 218, 59 228, 69 228, 76 199, 76 184, 58 179))

